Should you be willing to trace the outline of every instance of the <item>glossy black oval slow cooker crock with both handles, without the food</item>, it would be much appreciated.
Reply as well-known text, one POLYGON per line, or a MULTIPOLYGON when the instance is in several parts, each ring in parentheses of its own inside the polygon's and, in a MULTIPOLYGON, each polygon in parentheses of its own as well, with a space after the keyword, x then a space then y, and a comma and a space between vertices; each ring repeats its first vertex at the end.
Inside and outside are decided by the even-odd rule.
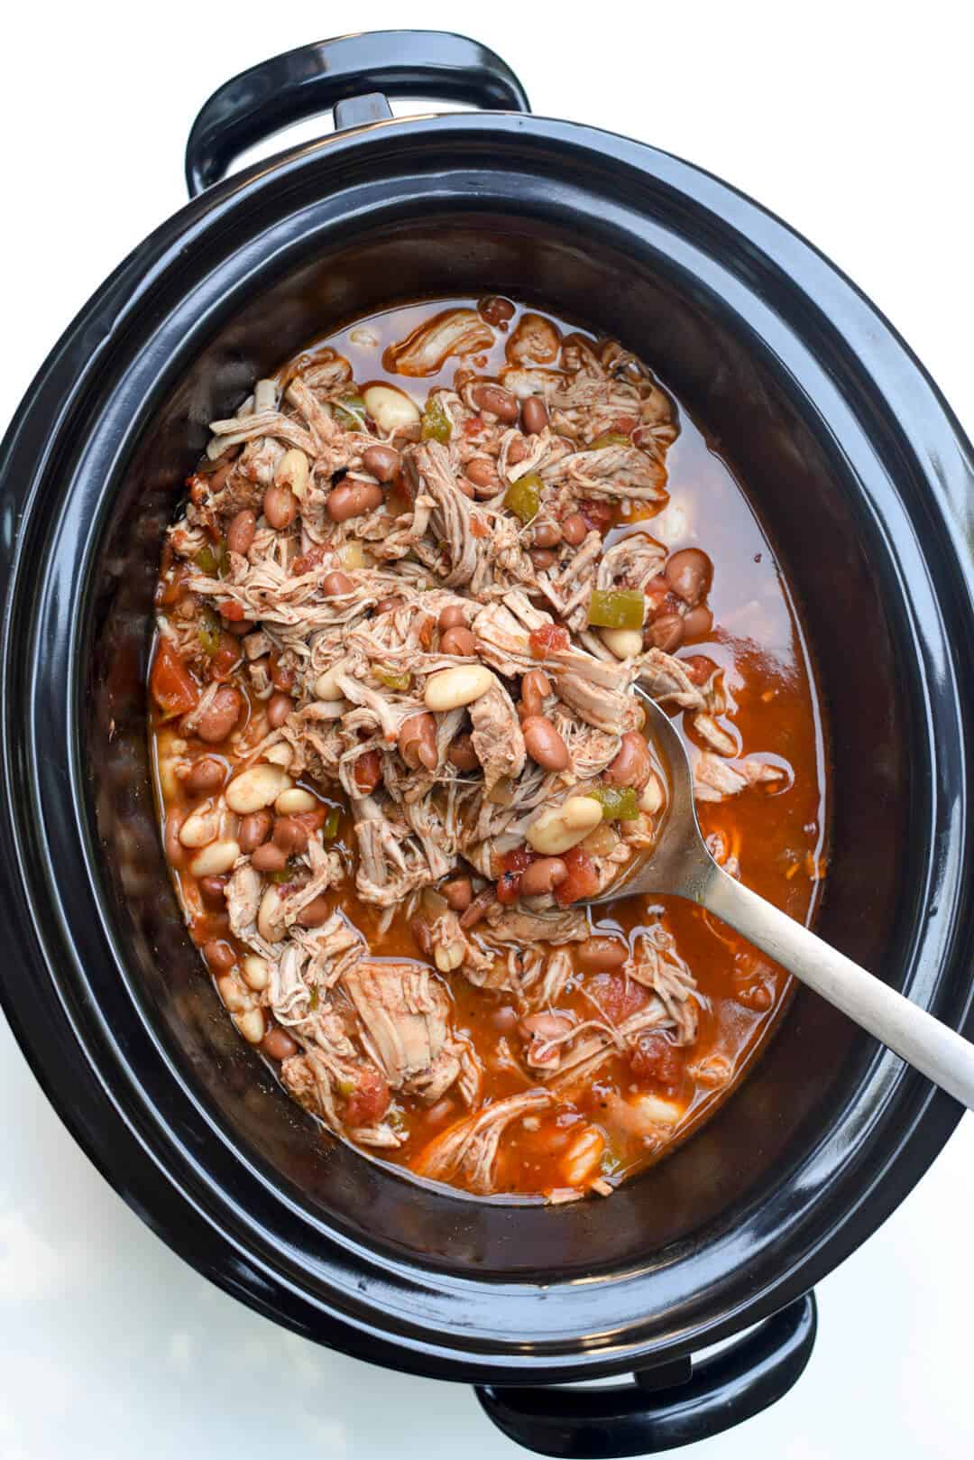
POLYGON ((320 1139, 234 1034, 171 894, 145 743, 161 536, 206 422, 310 334, 485 291, 618 334, 748 483, 803 603, 832 726, 821 933, 974 1034, 971 448, 796 234, 672 156, 532 117, 459 36, 349 36, 247 72, 200 114, 187 175, 193 201, 69 327, 0 454, 7 1016, 112 1186, 260 1313, 475 1381, 546 1454, 714 1434, 794 1383, 813 1283, 959 1108, 800 993, 740 1092, 605 1203, 421 1190, 320 1139), (386 95, 491 110, 391 120, 386 95), (329 107, 334 136, 219 181, 329 107))

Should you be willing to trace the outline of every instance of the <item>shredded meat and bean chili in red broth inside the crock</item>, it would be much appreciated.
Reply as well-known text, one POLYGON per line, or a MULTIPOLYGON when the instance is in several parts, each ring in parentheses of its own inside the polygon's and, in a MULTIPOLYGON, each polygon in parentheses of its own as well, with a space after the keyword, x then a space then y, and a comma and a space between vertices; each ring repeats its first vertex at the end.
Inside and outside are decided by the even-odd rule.
POLYGON ((678 717, 710 845, 810 918, 800 625, 647 366, 511 301, 359 321, 212 423, 164 548, 162 835, 241 1037, 330 1132, 482 1196, 607 1196, 753 1058, 786 975, 651 854, 678 717))

